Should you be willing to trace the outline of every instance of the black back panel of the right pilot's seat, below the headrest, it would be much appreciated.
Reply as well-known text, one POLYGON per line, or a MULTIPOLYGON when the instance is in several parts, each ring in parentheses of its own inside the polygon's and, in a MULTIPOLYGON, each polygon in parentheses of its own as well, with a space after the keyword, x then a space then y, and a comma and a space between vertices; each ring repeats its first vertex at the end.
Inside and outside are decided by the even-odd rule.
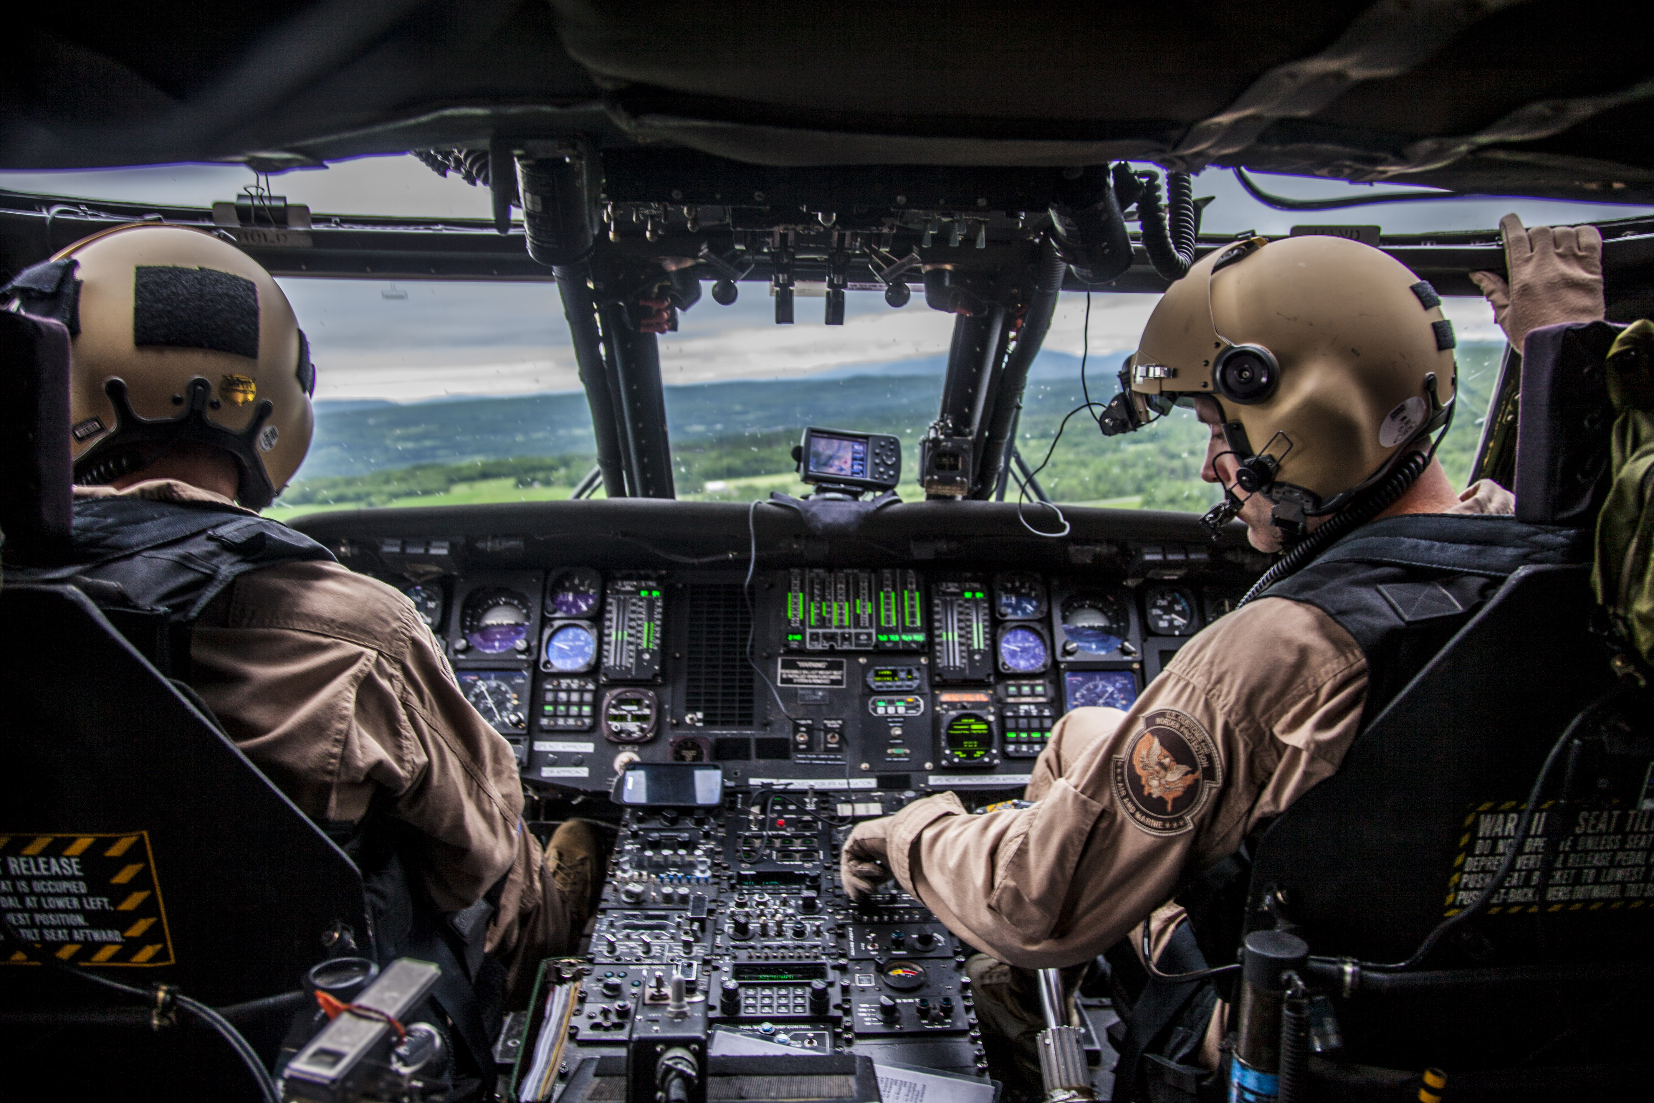
MULTIPOLYGON (((1608 650, 1588 630, 1588 572, 1558 566, 1512 575, 1368 726, 1338 772, 1274 822, 1252 867, 1249 929, 1274 926, 1269 903, 1279 893, 1277 910, 1313 954, 1399 962, 1477 898, 1548 752, 1613 681, 1608 650)), ((1517 871, 1426 967, 1654 957, 1654 738, 1637 708, 1621 709, 1606 729, 1581 726, 1578 746, 1551 772, 1545 819, 1517 871)), ((1563 1029, 1558 1005, 1571 1009, 1575 996, 1551 996, 1558 1002, 1542 1005, 1532 992, 1447 991, 1381 1005, 1351 1000, 1341 1014, 1355 1060, 1499 1067, 1563 1029)), ((1580 1012, 1629 996, 1598 989, 1580 1012)), ((1651 1020, 1642 1009, 1601 1030, 1651 1020)), ((1568 1052, 1560 1045, 1548 1058, 1568 1052)))

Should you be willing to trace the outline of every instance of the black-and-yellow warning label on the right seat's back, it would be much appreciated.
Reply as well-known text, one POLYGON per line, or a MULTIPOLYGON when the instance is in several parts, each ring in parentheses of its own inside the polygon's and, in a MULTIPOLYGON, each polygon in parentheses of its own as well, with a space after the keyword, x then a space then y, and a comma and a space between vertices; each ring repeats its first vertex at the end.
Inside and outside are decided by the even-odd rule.
MULTIPOLYGON (((1499 875, 1515 842, 1522 802, 1477 804, 1464 820, 1447 880, 1446 914, 1457 914, 1499 875)), ((1654 901, 1654 809, 1556 807, 1533 814, 1510 876, 1487 914, 1644 908, 1654 901)))

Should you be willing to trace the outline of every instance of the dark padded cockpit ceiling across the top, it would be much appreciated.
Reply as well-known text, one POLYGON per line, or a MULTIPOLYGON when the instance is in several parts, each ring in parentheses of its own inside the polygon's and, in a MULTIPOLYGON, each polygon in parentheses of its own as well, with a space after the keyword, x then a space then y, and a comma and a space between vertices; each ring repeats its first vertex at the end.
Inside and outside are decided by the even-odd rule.
MULTIPOLYGON (((1654 198, 1632 5, 1568 0, 31 5, 0 165, 587 134, 767 165, 1168 167, 1654 198)), ((18 26, 22 23, 22 26, 18 26)))

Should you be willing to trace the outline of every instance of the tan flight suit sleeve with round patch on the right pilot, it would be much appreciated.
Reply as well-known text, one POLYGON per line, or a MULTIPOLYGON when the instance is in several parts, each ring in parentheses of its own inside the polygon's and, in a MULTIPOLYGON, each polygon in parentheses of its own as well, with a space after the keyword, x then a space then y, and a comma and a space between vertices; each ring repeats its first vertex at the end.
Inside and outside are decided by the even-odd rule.
POLYGON ((941 794, 890 817, 892 871, 1001 961, 1085 961, 1330 777, 1365 701, 1366 660, 1327 614, 1254 602, 1184 645, 1130 713, 1064 716, 1032 807, 968 815, 941 794))

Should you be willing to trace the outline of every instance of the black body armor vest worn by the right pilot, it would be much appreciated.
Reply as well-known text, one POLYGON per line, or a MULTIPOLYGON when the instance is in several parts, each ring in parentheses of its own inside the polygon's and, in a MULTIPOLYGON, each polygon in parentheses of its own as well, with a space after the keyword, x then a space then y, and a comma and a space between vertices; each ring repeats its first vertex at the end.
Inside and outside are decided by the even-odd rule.
MULTIPOLYGON (((1585 529, 1512 516, 1406 514, 1363 524, 1264 595, 1315 605, 1356 642, 1368 663, 1366 731, 1505 579, 1527 566, 1589 559, 1591 534, 1585 529)), ((1194 972, 1237 959, 1250 853, 1265 827, 1255 827, 1239 852, 1184 881, 1176 901, 1189 921, 1168 943, 1161 972, 1194 972)), ((1168 984, 1151 979, 1125 943, 1105 956, 1116 1005, 1130 1007, 1115 1039, 1120 1065, 1113 1098, 1221 1098, 1222 1077, 1193 1060, 1212 1009, 1231 996, 1224 982, 1232 977, 1168 984)))

